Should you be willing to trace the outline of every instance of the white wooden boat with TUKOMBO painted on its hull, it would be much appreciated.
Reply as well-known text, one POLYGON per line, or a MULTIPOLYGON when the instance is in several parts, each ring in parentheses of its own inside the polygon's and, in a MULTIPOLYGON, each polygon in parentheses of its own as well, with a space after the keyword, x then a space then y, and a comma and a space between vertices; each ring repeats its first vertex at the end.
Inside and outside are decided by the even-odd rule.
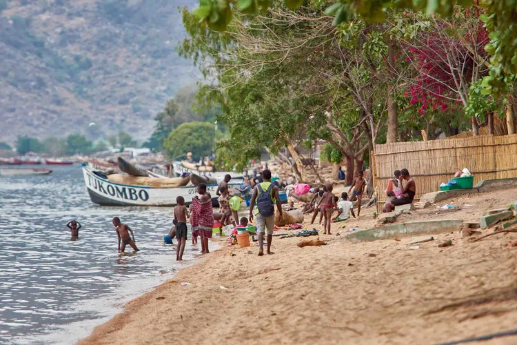
MULTIPOLYGON (((90 199, 95 204, 105 206, 176 206, 176 197, 185 198, 185 204, 191 204, 197 195, 197 188, 153 188, 150 186, 134 186, 110 181, 101 171, 83 167, 83 177, 90 199)), ((240 184, 229 184, 232 195, 240 195, 240 184)), ((217 185, 207 186, 212 194, 212 203, 217 200, 217 185)))

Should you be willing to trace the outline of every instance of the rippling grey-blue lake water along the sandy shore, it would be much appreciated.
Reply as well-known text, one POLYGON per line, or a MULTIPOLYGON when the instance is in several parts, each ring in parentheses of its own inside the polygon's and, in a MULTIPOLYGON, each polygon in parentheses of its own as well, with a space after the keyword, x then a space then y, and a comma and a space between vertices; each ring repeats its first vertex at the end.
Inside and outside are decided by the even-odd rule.
POLYGON ((97 206, 79 165, 49 168, 0 176, 0 344, 73 344, 200 249, 189 235, 178 264, 176 248, 163 244, 172 208, 97 206), (138 254, 117 253, 115 216, 134 231, 138 254), (83 226, 78 241, 70 241, 71 219, 83 226))

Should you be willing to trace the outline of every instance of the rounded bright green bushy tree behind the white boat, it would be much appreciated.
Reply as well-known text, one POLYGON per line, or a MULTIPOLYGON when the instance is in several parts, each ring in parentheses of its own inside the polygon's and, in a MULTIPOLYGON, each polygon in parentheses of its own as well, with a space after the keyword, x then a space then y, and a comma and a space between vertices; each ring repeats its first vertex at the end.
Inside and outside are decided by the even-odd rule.
POLYGON ((170 132, 163 148, 170 159, 186 155, 187 152, 192 152, 194 159, 201 159, 214 151, 215 137, 214 124, 187 122, 170 132))

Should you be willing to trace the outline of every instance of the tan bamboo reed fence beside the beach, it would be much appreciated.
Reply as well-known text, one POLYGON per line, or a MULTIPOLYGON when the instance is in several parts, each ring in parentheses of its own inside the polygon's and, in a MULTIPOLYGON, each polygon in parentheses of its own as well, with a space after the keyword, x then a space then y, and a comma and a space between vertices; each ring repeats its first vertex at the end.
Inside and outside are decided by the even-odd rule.
POLYGON ((416 183, 416 200, 425 193, 439 190, 442 182, 447 183, 463 168, 474 175, 474 185, 484 179, 517 177, 517 135, 376 145, 373 157, 380 212, 386 201, 384 191, 389 179, 394 178, 394 170, 409 170, 416 183))

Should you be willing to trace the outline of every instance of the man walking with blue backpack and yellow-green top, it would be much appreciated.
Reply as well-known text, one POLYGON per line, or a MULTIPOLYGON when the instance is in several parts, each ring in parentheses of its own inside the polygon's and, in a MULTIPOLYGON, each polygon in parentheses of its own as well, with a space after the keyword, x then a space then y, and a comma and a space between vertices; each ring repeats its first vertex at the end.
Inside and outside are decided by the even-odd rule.
POLYGON ((278 210, 279 220, 282 221, 282 204, 278 187, 271 183, 271 171, 265 169, 262 172, 263 182, 253 188, 252 201, 250 203, 250 221, 253 221, 253 208, 256 201, 256 227, 259 233, 259 256, 264 255, 264 233, 267 228, 267 254, 271 251, 271 242, 274 231, 274 204, 278 210))

